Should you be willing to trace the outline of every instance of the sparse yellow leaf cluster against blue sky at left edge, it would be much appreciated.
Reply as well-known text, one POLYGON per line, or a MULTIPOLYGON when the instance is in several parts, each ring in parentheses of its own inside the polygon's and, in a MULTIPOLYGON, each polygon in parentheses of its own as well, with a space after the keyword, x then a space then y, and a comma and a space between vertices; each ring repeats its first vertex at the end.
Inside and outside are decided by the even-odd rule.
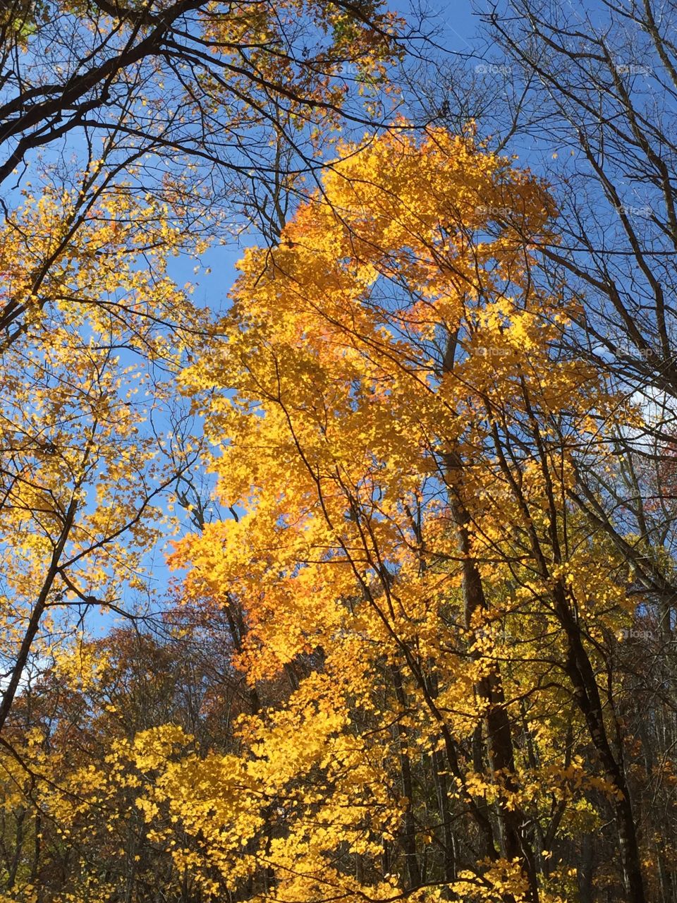
MULTIPOLYGON (((92 166, 42 186, 0 228, 0 548, 11 660, 36 600, 116 600, 144 585, 170 527, 153 416, 207 316, 167 275, 199 252, 172 211, 92 166)), ((44 621, 45 628, 49 627, 44 621)), ((53 627, 53 624, 52 624, 53 627)), ((50 630, 45 629, 47 635, 50 630)))

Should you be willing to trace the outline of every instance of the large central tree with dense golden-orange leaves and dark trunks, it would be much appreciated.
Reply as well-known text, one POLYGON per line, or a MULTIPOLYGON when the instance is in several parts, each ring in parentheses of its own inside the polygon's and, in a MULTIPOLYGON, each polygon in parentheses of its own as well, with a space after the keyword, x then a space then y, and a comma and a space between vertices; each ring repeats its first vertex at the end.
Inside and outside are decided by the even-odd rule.
MULTIPOLYGON (((289 703, 243 722, 251 759, 226 763, 251 852, 236 866, 215 825, 205 861, 236 893, 256 870, 254 892, 278 899, 555 899, 578 786, 612 813, 643 899, 599 683, 633 605, 571 505, 623 405, 556 353, 576 308, 535 289, 530 250, 552 200, 469 135, 343 157, 280 246, 245 257, 227 355, 184 377, 226 390, 209 394, 212 466, 246 516, 177 561, 190 592, 239 600, 253 684, 299 675, 289 703), (518 228, 496 220, 506 206, 518 228)), ((193 796, 163 787, 205 833, 193 796)))

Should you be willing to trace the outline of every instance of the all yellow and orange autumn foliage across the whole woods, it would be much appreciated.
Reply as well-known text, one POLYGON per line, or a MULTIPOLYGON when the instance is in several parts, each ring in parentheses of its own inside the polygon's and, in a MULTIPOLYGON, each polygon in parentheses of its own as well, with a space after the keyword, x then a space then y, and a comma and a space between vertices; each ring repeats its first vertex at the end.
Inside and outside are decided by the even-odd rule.
MULTIPOLYGON (((249 92, 256 38, 292 123, 338 124, 346 47, 372 79, 393 54, 392 17, 334 11, 299 72, 267 5, 210 10, 233 72, 199 86, 249 92)), ((645 411, 562 340, 555 192, 474 123, 332 153, 218 319, 170 275, 209 243, 176 173, 97 159, 5 222, 0 900, 668 903, 671 703, 639 675, 670 619, 585 476, 645 411), (83 633, 93 605, 132 623, 83 633)))

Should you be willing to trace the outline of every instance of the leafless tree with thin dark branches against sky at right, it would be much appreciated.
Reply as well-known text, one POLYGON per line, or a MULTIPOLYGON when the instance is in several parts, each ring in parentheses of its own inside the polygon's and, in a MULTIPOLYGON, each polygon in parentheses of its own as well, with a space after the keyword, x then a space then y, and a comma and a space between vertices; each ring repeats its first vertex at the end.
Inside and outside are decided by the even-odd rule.
POLYGON ((581 300, 562 340, 642 398, 642 427, 617 437, 629 481, 619 489, 589 473, 580 504, 633 559, 638 589, 662 609, 666 630, 676 588, 658 562, 674 554, 672 531, 669 517, 645 517, 652 490, 636 477, 673 433, 674 16, 672 3, 631 3, 619 16, 530 0, 496 5, 484 15, 493 65, 487 57, 481 77, 514 109, 507 125, 495 106, 485 127, 533 154, 557 194, 559 238, 541 247, 541 274, 581 300))

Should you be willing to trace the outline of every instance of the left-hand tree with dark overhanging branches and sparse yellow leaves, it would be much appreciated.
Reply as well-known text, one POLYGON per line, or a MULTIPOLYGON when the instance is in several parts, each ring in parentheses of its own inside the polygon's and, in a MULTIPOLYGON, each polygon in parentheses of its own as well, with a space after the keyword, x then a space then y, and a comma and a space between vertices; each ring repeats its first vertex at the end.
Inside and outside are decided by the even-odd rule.
POLYGON ((3 6, 0 729, 70 610, 134 614, 176 528, 199 438, 168 428, 172 380, 212 333, 171 258, 247 210, 281 227, 330 127, 374 115, 398 27, 374 5, 3 6))

